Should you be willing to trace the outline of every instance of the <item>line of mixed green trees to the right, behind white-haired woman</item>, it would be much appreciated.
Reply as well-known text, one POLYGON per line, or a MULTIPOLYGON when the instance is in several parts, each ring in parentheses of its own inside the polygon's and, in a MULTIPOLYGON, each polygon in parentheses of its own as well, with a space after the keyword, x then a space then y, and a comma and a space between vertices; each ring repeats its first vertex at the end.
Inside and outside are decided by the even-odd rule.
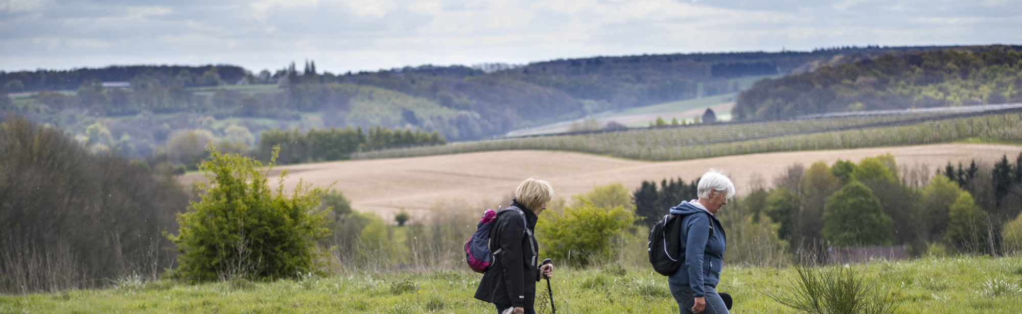
MULTIPOLYGON (((1019 249, 1005 239, 1022 229, 1005 225, 1022 224, 1022 155, 993 165, 948 164, 928 181, 925 172, 900 168, 889 154, 794 164, 774 179, 775 188, 754 188, 732 206, 748 213, 748 223, 776 223, 777 240, 790 253, 817 258, 828 247, 903 245, 913 256, 1019 249)), ((652 225, 670 207, 698 198, 697 185, 643 181, 632 196, 636 214, 652 225)))

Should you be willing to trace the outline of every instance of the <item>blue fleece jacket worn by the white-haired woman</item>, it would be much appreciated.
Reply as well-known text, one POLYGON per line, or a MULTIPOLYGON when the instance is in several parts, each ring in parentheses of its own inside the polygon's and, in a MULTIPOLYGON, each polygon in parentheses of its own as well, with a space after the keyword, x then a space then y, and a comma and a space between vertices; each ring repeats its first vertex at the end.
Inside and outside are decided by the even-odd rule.
POLYGON ((694 298, 703 298, 706 296, 704 286, 710 285, 715 289, 716 283, 721 281, 724 249, 728 240, 724 227, 721 226, 721 220, 691 203, 685 201, 670 209, 671 214, 685 215, 681 232, 685 263, 678 267, 675 274, 667 277, 667 282, 688 285, 692 289, 694 298))

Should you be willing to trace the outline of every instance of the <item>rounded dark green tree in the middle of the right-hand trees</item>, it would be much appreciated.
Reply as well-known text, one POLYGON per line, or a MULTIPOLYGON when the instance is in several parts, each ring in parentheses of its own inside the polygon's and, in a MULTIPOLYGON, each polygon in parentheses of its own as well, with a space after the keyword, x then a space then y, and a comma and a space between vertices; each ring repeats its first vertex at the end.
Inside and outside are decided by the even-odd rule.
POLYGON ((825 241, 835 247, 883 246, 894 242, 893 221, 869 188, 852 181, 827 198, 825 241))

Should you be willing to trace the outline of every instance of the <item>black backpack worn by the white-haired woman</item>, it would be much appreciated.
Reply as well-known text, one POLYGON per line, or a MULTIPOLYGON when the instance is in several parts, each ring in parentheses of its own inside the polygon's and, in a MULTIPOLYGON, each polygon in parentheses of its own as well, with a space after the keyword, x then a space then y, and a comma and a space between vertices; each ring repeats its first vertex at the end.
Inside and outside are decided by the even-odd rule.
MULTIPOLYGON (((705 213, 709 214, 709 213, 705 213)), ((685 252, 682 250, 682 220, 685 215, 666 214, 663 219, 653 224, 649 230, 649 263, 657 273, 669 276, 685 263, 685 252)), ((713 237, 712 218, 710 218, 709 237, 713 237)))

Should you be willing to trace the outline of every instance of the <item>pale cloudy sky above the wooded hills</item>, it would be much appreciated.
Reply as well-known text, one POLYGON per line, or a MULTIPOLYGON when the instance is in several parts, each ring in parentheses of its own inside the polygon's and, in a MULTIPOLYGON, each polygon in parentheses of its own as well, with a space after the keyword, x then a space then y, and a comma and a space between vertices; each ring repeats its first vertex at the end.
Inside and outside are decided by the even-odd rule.
POLYGON ((1020 0, 0 0, 0 70, 1022 44, 1020 0))

